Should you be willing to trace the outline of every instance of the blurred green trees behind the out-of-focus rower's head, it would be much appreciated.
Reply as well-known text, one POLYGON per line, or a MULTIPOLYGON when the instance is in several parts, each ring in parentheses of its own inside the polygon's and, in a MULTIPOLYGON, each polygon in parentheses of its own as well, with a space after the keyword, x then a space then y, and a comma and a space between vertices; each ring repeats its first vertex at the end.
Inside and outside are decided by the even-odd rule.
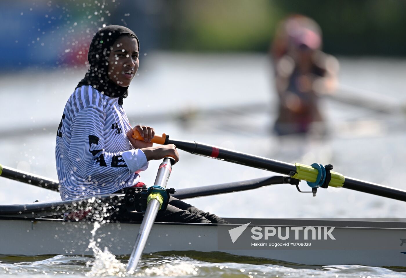
POLYGON ((268 51, 280 20, 313 18, 331 54, 406 54, 404 0, 179 0, 166 6, 173 50, 268 51))

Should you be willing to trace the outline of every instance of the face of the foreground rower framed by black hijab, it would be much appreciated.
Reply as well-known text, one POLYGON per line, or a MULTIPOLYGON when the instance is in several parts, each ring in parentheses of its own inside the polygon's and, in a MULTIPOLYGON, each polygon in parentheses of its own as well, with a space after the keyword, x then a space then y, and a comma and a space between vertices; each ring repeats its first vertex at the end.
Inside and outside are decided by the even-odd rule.
POLYGON ((121 87, 129 86, 138 70, 138 54, 135 38, 119 37, 110 50, 108 78, 121 87))

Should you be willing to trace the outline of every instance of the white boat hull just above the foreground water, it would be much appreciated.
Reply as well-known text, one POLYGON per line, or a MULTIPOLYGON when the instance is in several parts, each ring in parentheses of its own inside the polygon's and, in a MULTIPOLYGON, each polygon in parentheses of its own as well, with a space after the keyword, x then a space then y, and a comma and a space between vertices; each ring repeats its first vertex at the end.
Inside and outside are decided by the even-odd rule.
MULTIPOLYGON (((302 224, 300 224, 302 225, 302 224)), ((100 249, 107 247, 115 255, 132 251, 139 223, 105 223, 97 230, 95 240, 100 249)), ((63 222, 55 219, 0 219, 0 254, 37 256, 45 254, 93 255, 88 247, 93 238, 93 223, 63 222)), ((368 228, 339 228, 335 235, 356 237, 368 228)), ((369 232, 376 231, 369 228, 369 232)), ((383 238, 406 237, 404 228, 379 229, 383 238)), ((218 248, 216 224, 156 223, 145 253, 162 251, 227 252, 306 265, 369 265, 406 267, 406 246, 386 250, 221 250, 218 248), (404 253, 403 253, 404 252, 404 253)), ((371 243, 372 245, 374 243, 371 243)), ((400 245, 400 244, 399 244, 400 245)))

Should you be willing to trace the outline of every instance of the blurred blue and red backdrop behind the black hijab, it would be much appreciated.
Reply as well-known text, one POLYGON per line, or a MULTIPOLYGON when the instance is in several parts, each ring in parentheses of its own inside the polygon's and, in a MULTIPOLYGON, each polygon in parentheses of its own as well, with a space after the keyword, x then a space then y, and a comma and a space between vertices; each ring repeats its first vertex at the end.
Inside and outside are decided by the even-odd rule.
POLYGON ((0 2, 0 71, 84 66, 93 34, 124 25, 137 34, 142 53, 157 45, 159 9, 142 1, 0 2))

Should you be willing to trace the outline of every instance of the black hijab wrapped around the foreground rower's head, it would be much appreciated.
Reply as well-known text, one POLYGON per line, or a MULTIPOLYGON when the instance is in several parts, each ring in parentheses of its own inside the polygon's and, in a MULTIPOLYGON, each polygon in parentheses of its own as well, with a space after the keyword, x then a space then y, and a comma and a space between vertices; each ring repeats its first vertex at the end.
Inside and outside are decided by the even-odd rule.
MULTIPOLYGON (((110 55, 110 48, 113 46, 121 35, 129 35, 138 42, 138 49, 140 48, 140 41, 134 32, 126 27, 119 25, 106 26, 95 34, 89 46, 89 53, 87 59, 89 60, 90 69, 85 74, 84 78, 79 82, 76 88, 84 85, 92 85, 97 91, 105 94, 106 96, 119 98, 119 105, 123 105, 123 98, 128 96, 128 86, 121 87, 112 82, 108 78, 108 57, 110 55)), ((75 89, 76 89, 75 88, 75 89)))

